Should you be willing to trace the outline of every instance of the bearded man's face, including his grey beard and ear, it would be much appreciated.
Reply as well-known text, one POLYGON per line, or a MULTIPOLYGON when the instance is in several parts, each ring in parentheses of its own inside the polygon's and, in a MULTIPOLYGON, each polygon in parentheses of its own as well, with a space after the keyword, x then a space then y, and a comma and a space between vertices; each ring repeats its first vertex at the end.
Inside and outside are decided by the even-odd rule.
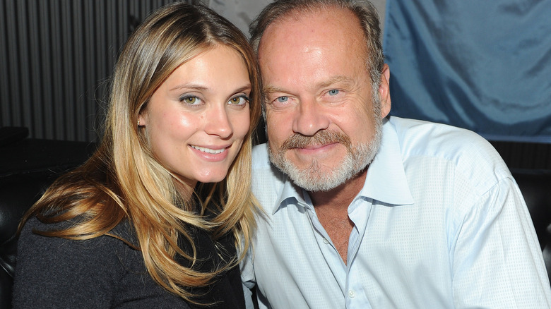
POLYGON ((271 160, 306 190, 340 186, 377 153, 389 72, 373 90, 364 45, 357 18, 340 9, 278 20, 261 39, 271 160))

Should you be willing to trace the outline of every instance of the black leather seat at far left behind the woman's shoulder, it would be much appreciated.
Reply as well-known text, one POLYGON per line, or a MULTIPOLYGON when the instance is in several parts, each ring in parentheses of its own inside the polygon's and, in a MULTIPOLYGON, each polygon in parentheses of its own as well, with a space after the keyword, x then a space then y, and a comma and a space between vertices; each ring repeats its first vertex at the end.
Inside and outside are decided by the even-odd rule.
POLYGON ((11 308, 16 231, 23 213, 59 175, 82 164, 95 146, 25 138, 24 128, 0 129, 0 308, 11 308))

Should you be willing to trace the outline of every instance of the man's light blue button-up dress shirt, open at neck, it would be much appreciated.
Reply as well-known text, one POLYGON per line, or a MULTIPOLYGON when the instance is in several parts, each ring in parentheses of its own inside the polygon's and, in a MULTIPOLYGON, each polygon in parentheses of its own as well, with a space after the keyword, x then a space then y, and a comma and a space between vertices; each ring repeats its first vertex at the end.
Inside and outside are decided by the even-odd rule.
MULTIPOLYGON (((551 308, 521 192, 470 131, 391 117, 348 207, 343 262, 309 195, 254 148, 254 250, 242 262, 260 308, 551 308)), ((250 305, 250 303, 249 303, 250 305)))

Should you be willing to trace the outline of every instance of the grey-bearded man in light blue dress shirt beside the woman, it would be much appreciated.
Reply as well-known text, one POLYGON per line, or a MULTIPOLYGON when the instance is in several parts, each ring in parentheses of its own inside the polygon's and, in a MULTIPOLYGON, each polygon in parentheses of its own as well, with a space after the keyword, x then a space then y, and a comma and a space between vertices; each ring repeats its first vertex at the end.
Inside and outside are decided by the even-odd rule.
POLYGON ((551 308, 497 152, 470 131, 387 117, 371 5, 275 1, 251 29, 268 145, 254 149, 264 212, 242 277, 260 308, 551 308))

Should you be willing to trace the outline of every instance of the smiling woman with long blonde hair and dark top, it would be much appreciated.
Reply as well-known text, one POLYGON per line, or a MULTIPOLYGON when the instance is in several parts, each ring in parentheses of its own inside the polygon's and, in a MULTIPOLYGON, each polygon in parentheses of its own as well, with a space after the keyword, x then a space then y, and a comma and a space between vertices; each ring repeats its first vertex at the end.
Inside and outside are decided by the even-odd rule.
POLYGON ((256 74, 210 9, 148 17, 119 56, 97 152, 23 218, 14 307, 244 307, 256 74))

